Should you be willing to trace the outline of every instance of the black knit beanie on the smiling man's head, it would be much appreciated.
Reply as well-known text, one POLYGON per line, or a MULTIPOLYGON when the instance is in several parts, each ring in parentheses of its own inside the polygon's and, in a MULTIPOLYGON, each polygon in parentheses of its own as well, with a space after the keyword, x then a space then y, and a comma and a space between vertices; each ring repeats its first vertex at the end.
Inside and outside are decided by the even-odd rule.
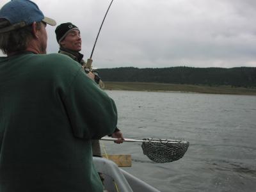
POLYGON ((60 24, 56 29, 55 29, 55 33, 56 33, 56 39, 58 44, 60 44, 60 42, 65 38, 65 36, 73 30, 79 30, 77 28, 77 26, 75 26, 74 24, 72 24, 71 22, 65 22, 63 24, 60 24))

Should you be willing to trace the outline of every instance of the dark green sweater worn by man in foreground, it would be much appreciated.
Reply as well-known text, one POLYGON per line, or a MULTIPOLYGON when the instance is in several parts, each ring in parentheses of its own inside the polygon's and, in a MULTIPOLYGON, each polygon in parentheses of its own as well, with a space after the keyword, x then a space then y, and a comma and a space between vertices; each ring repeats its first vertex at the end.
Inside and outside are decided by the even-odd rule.
POLYGON ((113 100, 68 56, 0 58, 0 191, 102 192, 90 140, 116 123, 113 100))

